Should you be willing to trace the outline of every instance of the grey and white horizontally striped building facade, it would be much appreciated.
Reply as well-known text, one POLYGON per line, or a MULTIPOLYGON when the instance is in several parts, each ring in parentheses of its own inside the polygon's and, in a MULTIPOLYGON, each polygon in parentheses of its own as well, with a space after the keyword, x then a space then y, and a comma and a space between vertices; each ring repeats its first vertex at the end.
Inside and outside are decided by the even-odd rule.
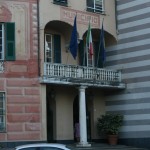
POLYGON ((150 148, 150 1, 118 0, 117 45, 107 48, 107 66, 122 69, 126 90, 107 96, 106 111, 124 114, 122 141, 150 148))

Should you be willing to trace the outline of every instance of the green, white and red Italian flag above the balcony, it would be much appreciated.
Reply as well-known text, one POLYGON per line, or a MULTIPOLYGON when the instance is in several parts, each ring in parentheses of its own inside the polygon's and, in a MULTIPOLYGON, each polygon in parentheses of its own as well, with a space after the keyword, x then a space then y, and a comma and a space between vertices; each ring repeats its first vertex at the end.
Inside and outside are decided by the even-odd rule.
POLYGON ((86 37, 86 46, 88 48, 88 52, 89 52, 90 56, 92 57, 92 55, 93 55, 93 43, 92 43, 92 33, 91 33, 90 22, 89 22, 89 27, 88 27, 87 37, 86 37))

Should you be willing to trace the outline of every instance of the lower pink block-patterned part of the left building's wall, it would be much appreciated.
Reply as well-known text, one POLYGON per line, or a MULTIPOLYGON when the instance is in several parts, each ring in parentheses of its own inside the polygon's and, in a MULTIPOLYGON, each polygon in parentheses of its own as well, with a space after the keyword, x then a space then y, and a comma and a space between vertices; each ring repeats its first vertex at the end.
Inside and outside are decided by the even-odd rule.
POLYGON ((41 104, 38 79, 1 79, 1 91, 6 92, 6 133, 1 141, 40 140, 41 104))

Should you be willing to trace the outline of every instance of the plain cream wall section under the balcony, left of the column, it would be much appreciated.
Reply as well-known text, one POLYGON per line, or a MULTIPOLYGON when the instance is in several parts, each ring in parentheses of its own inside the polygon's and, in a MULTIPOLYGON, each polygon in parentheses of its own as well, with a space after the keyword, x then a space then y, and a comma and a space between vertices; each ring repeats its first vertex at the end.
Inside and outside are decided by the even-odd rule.
POLYGON ((73 101, 75 88, 57 88, 56 96, 56 139, 73 140, 73 101))

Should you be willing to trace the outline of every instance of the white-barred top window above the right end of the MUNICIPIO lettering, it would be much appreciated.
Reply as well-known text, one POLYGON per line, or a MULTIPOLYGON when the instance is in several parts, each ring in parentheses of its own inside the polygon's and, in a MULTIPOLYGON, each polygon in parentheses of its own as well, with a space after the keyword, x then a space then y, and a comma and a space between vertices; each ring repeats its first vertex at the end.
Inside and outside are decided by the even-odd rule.
POLYGON ((104 0, 101 0, 101 9, 99 9, 98 7, 99 6, 97 6, 96 5, 96 0, 86 0, 86 2, 87 2, 87 11, 90 11, 90 12, 94 12, 94 13, 101 13, 101 14, 103 14, 104 13, 104 0), (89 2, 93 2, 93 6, 88 6, 88 3, 89 2))

